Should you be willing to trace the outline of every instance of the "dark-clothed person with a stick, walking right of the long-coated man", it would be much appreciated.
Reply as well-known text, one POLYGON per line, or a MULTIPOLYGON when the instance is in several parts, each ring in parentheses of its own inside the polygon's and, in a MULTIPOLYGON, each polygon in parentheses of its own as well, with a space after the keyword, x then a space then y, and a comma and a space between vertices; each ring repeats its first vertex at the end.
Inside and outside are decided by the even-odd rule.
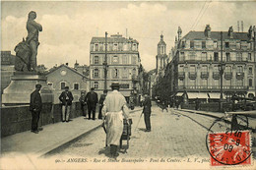
POLYGON ((151 132, 151 98, 148 94, 144 95, 144 101, 143 101, 143 111, 144 114, 144 121, 146 125, 146 131, 145 132, 151 132))

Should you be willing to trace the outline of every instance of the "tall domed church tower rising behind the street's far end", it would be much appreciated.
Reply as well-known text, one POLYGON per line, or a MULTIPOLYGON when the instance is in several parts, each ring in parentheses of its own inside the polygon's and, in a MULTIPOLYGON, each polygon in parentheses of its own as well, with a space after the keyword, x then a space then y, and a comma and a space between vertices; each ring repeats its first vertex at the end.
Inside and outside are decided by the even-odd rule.
POLYGON ((167 65, 167 55, 166 55, 166 43, 163 40, 163 35, 160 35, 160 42, 158 44, 158 55, 157 59, 157 75, 163 71, 167 65))

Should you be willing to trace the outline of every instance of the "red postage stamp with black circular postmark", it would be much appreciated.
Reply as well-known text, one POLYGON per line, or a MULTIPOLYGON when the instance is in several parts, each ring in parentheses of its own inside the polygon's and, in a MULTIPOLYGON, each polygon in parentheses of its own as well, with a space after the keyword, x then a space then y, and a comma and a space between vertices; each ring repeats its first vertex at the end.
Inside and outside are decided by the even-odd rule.
POLYGON ((211 133, 208 136, 211 165, 250 165, 251 136, 249 131, 211 133))

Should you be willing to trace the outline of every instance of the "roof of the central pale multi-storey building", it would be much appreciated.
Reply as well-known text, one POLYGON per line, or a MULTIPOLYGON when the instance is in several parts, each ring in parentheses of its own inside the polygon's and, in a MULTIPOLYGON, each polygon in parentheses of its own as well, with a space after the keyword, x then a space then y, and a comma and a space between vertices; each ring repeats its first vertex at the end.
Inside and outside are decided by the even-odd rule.
MULTIPOLYGON (((92 37, 91 43, 104 43, 105 42, 105 37, 92 37)), ((108 43, 125 43, 125 42, 132 42, 132 43, 139 43, 136 39, 133 38, 125 38, 122 37, 121 35, 116 36, 116 35, 111 35, 110 37, 107 37, 107 42, 108 43)))

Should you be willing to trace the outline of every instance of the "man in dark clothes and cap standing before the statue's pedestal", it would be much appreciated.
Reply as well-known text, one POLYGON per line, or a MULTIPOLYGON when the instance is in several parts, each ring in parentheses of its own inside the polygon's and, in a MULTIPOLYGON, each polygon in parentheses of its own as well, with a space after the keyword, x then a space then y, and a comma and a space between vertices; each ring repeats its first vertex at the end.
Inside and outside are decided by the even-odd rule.
POLYGON ((41 85, 35 85, 35 90, 31 94, 30 110, 32 112, 32 133, 38 134, 38 121, 42 108, 41 95, 39 93, 41 85))

